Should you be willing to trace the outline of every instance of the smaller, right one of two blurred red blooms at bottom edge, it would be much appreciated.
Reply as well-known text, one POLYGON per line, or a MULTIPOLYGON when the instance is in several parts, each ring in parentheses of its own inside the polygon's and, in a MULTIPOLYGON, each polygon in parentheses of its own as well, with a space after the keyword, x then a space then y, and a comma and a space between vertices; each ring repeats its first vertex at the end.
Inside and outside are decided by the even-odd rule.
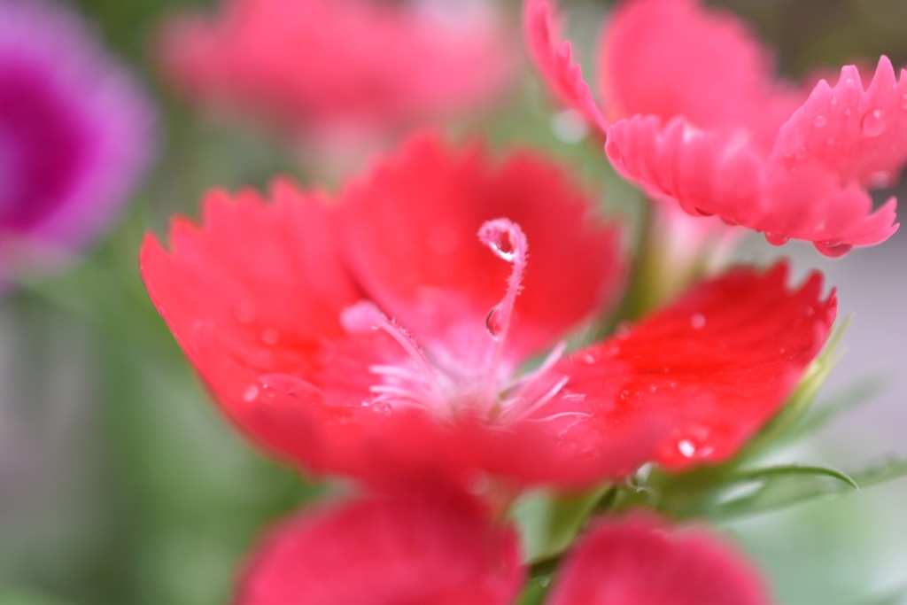
POLYGON ((555 576, 548 605, 759 605, 752 566, 707 532, 678 532, 648 514, 595 524, 555 576))

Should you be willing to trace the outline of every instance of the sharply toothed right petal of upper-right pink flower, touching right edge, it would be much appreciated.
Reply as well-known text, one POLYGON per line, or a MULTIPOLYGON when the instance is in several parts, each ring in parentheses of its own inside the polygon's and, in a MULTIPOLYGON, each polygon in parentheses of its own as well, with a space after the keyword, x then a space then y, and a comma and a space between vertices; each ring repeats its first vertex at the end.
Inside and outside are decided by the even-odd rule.
POLYGON ((895 79, 888 57, 879 60, 863 90, 852 65, 838 83, 824 80, 778 133, 772 161, 790 169, 816 161, 843 182, 888 186, 907 162, 907 77, 895 79))

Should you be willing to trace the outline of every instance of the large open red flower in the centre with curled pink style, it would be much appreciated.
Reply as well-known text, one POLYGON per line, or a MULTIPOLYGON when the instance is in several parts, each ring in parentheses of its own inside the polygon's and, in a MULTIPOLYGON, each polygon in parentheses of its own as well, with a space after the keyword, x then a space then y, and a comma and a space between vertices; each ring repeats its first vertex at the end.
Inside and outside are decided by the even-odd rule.
POLYGON ((834 320, 819 276, 789 292, 784 266, 741 268, 563 356, 619 287, 619 232, 528 153, 494 166, 420 138, 336 205, 272 198, 210 194, 171 254, 149 236, 142 273, 225 412, 318 472, 567 485, 723 460, 834 320))

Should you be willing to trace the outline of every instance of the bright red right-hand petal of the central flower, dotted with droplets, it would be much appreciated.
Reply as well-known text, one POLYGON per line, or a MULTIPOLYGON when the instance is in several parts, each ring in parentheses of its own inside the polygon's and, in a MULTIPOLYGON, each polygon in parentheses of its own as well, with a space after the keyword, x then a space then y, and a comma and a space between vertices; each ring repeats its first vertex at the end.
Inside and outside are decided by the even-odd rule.
POLYGON ((570 376, 561 405, 589 412, 574 426, 594 426, 605 447, 648 427, 662 434, 649 461, 679 469, 727 460, 781 409, 834 322, 821 276, 793 291, 786 281, 785 264, 738 268, 581 349, 552 370, 570 376))

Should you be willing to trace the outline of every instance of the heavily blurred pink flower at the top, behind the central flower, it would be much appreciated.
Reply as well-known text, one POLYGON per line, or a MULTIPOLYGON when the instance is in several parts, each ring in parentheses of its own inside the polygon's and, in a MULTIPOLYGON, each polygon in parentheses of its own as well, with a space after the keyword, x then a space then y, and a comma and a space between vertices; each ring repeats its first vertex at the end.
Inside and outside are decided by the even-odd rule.
POLYGON ((511 80, 517 51, 483 0, 226 0, 174 18, 159 45, 201 105, 327 140, 474 110, 511 80))

